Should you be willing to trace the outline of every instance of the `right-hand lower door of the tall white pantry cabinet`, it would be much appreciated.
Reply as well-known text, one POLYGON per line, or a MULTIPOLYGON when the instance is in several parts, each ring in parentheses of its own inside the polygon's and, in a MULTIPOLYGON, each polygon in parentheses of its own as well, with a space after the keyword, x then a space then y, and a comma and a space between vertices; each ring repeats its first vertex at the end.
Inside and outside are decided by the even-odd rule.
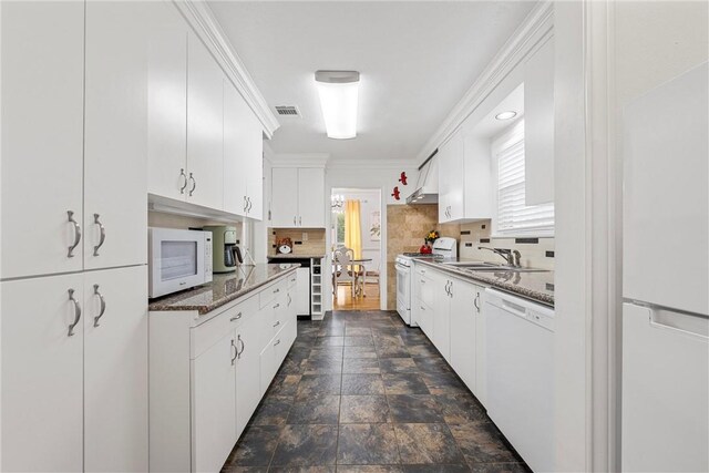
POLYGON ((84 470, 147 469, 147 267, 84 274, 84 470))

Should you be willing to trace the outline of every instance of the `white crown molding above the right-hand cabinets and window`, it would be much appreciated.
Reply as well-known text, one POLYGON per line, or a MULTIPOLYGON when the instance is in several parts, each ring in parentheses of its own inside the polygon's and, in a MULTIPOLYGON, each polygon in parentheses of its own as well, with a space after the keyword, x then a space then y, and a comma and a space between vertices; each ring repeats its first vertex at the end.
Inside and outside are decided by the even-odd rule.
POLYGON ((421 148, 415 157, 417 163, 422 163, 436 147, 449 140, 465 119, 483 103, 510 72, 535 50, 536 44, 553 34, 553 29, 554 4, 551 1, 545 1, 530 12, 524 22, 495 54, 482 74, 465 92, 463 99, 458 102, 421 148))

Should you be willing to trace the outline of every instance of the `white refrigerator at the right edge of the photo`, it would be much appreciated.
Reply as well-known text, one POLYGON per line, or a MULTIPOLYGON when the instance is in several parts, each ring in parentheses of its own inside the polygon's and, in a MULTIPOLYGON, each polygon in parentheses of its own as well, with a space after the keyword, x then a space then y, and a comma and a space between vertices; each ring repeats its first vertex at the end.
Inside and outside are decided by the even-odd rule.
POLYGON ((623 471, 709 471, 709 69, 623 114, 623 471))

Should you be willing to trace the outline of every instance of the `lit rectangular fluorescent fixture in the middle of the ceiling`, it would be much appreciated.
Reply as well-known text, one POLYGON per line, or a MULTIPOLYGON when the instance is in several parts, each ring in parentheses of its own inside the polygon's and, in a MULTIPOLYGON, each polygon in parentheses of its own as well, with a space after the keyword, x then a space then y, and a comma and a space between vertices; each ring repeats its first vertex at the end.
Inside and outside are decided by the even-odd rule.
POLYGON ((317 71, 315 80, 328 137, 347 140, 357 136, 359 72, 317 71))

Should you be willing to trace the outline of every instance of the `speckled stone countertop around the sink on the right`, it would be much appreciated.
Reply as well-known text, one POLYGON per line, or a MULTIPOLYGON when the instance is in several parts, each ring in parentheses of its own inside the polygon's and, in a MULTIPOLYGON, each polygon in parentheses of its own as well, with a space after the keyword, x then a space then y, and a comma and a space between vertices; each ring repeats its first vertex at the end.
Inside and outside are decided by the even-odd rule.
POLYGON ((494 288, 512 292, 554 307, 554 271, 518 273, 511 270, 475 271, 444 265, 431 259, 415 259, 417 264, 432 266, 443 271, 484 282, 494 288))

